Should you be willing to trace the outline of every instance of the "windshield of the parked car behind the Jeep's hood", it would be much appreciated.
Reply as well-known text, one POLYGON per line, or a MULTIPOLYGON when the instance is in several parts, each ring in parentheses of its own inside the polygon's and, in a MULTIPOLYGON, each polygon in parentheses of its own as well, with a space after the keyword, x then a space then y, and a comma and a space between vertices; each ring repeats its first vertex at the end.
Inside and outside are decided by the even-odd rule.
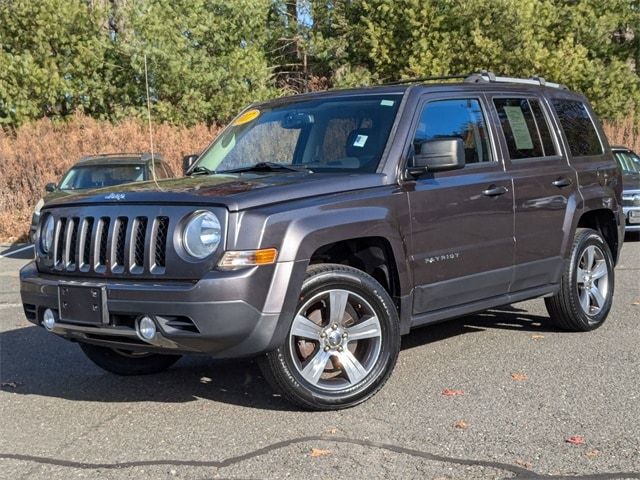
POLYGON ((84 190, 144 180, 144 165, 86 165, 73 167, 60 182, 60 190, 84 190))

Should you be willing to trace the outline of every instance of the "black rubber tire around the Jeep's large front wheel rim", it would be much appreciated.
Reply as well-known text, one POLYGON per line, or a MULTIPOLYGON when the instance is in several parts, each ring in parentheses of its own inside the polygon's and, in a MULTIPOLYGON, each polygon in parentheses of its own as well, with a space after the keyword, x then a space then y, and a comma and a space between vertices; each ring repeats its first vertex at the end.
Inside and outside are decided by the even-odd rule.
MULTIPOLYGON (((335 264, 310 266, 307 269, 307 274, 302 285, 296 316, 298 312, 303 311, 301 309, 309 304, 309 302, 314 302, 316 301, 314 299, 317 298, 319 299, 316 301, 317 304, 321 304, 323 300, 320 299, 323 295, 331 295, 331 292, 336 291, 348 292, 347 299, 345 300, 347 304, 344 309, 344 314, 340 317, 342 324, 337 331, 345 332, 343 335, 347 335, 348 337, 349 333, 347 332, 355 332, 355 328, 365 322, 363 319, 367 318, 368 320, 366 321, 369 322, 375 315, 379 321, 379 323, 373 327, 374 331, 379 333, 379 336, 375 339, 363 338, 355 341, 345 339, 343 343, 344 347, 336 347, 341 349, 339 350, 341 353, 337 353, 337 350, 327 353, 327 355, 336 355, 335 358, 340 367, 336 369, 338 371, 336 377, 330 380, 322 379, 319 380, 319 382, 347 382, 350 383, 350 385, 345 385, 344 388, 328 390, 319 384, 314 385, 303 376, 300 371, 300 366, 296 366, 298 365, 297 362, 300 362, 298 356, 300 352, 297 349, 302 339, 291 336, 295 322, 292 322, 283 344, 276 350, 261 357, 258 362, 264 377, 277 391, 280 391, 290 402, 307 410, 338 410, 352 407, 371 398, 382 388, 391 375, 400 351, 399 319, 393 300, 375 279, 355 268, 335 264), (364 300, 364 302, 361 300, 364 300), (365 304, 366 306, 363 306, 365 304), (355 305, 355 307, 353 305, 355 305), (372 311, 367 317, 364 315, 358 317, 356 308, 363 309, 358 311, 360 313, 362 313, 364 309, 370 309, 372 311), (353 313, 353 315, 350 315, 350 313, 353 313), (353 321, 353 323, 349 325, 351 321, 353 321), (344 326, 343 330, 342 326, 344 326), (375 357, 371 353, 367 353, 367 349, 372 349, 372 346, 375 346, 375 357), (359 348, 361 349, 360 351, 358 350, 359 348), (347 375, 347 369, 341 366, 344 362, 341 363, 340 358, 343 357, 339 357, 339 355, 342 354, 351 354, 354 356, 353 358, 355 358, 356 354, 363 355, 363 363, 358 363, 358 365, 367 365, 365 362, 368 362, 368 373, 356 383, 351 384, 351 379, 347 375), (341 376, 342 378, 340 378, 341 376)), ((332 301, 333 300, 331 300, 331 302, 332 301)), ((315 312, 320 311, 320 309, 315 310, 315 312)), ((319 313, 319 315, 331 316, 330 303, 325 303, 324 312, 325 313, 319 313)), ((324 320, 321 319, 319 323, 322 324, 323 321, 324 320)), ((324 327, 318 328, 324 328, 325 330, 323 331, 330 332, 330 335, 325 335, 324 340, 317 340, 318 344, 313 347, 313 353, 304 359, 307 363, 311 363, 313 359, 312 355, 315 357, 315 355, 322 354, 321 350, 326 352, 326 349, 330 348, 327 346, 327 342, 331 341, 328 337, 333 335, 333 332, 330 330, 331 325, 327 324, 324 327), (325 342, 324 347, 322 347, 323 344, 321 342, 325 342)), ((354 336, 355 335, 357 334, 354 333, 354 336)), ((338 337, 339 336, 340 335, 338 335, 338 337)), ((339 341, 343 342, 343 340, 339 341)), ((305 342, 306 340, 302 340, 302 343, 305 342)), ((331 370, 332 367, 334 369, 336 368, 333 359, 334 357, 331 356, 330 360, 324 364, 325 367, 322 370, 317 370, 322 372, 321 376, 326 375, 327 365, 331 365, 329 370, 331 370)), ((362 372, 364 371, 363 369, 362 372)))

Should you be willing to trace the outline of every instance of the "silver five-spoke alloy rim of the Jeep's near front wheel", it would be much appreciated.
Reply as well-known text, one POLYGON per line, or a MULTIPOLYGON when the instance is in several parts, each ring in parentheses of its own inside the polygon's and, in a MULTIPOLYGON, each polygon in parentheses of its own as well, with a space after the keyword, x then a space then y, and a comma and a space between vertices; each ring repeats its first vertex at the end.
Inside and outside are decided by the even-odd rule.
POLYGON ((289 332, 291 358, 312 386, 343 390, 361 382, 380 356, 382 329, 373 307, 348 290, 326 290, 307 301, 289 332))

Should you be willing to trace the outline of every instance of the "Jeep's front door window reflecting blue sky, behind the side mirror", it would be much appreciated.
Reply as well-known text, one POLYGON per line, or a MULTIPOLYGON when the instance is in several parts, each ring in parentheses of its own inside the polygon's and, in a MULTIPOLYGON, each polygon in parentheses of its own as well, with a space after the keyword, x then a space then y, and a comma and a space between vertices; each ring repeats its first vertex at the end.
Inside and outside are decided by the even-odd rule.
POLYGON ((467 164, 493 160, 485 117, 475 98, 436 100, 424 106, 413 140, 415 150, 420 151, 424 142, 446 138, 462 139, 467 164))

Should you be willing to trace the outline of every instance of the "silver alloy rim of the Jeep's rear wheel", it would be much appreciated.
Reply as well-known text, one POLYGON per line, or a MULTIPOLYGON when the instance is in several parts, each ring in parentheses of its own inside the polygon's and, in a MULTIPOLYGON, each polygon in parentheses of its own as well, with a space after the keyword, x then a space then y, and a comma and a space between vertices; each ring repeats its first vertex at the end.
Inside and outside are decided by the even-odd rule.
POLYGON ((609 295, 609 270, 602 250, 589 245, 582 252, 576 269, 580 307, 589 316, 597 315, 609 295))

